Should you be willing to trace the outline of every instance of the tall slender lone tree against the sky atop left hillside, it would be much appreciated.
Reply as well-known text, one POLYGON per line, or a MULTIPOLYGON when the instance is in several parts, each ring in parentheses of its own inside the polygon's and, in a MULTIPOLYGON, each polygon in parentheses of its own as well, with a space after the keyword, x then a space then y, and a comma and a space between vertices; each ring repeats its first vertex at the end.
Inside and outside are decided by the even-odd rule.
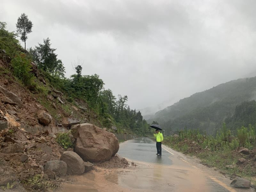
POLYGON ((16 27, 21 41, 25 43, 25 50, 26 40, 28 39, 28 34, 32 32, 32 26, 33 23, 29 20, 28 16, 25 13, 21 14, 17 20, 16 27))

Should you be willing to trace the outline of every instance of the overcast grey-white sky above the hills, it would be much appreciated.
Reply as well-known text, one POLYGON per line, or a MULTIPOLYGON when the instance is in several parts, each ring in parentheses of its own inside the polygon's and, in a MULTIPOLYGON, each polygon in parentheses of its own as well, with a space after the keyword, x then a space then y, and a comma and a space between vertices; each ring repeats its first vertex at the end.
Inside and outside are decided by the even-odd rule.
POLYGON ((1 0, 0 20, 14 31, 26 13, 34 24, 27 47, 49 37, 67 77, 79 58, 83 75, 98 74, 142 109, 255 75, 255 7, 256 0, 1 0))

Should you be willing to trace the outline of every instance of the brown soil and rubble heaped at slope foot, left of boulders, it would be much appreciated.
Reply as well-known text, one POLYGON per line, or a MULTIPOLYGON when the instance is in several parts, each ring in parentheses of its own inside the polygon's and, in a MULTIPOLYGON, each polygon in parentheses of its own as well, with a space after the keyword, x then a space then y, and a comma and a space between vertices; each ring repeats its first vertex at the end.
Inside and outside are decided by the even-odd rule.
MULTIPOLYGON (((19 145, 23 150, 10 154, 0 152, 0 172, 5 177, 12 178, 7 183, 20 182, 26 190, 33 190, 30 188, 31 186, 26 186, 29 178, 41 174, 45 163, 49 160, 58 160, 64 151, 53 137, 48 136, 48 133, 32 135, 20 128, 12 128, 11 132, 9 129, 1 131, 0 150, 13 145, 13 143, 19 145), (48 154, 47 159, 42 158, 45 154, 48 154), (28 157, 23 163, 21 162, 22 155, 28 157)), ((59 182, 52 181, 53 183, 59 182)))

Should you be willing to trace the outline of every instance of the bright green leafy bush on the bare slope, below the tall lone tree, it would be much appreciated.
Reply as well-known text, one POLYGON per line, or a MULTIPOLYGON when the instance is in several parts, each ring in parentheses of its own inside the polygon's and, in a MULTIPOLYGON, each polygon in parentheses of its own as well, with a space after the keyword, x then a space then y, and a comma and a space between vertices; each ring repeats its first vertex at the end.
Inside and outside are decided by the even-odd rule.
POLYGON ((24 53, 20 53, 12 59, 12 67, 14 75, 20 79, 20 81, 25 85, 32 84, 35 76, 30 73, 32 71, 31 61, 29 61, 24 53))

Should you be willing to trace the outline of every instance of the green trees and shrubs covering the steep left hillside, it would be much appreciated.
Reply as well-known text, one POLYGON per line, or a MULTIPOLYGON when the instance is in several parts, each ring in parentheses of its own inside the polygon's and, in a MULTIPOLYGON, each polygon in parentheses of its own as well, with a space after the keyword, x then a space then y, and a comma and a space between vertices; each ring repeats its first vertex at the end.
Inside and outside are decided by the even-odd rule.
MULTIPOLYGON (((22 18, 23 16, 25 18, 26 15, 23 14, 22 18)), ((27 16, 26 21, 30 22, 27 16)), ((32 27, 32 23, 29 25, 32 27)), ((23 37, 22 41, 25 42, 31 28, 25 31, 20 29, 18 32, 23 37)), ((12 68, 9 70, 30 90, 38 93, 39 102, 49 110, 52 116, 57 117, 57 114, 51 103, 47 102, 47 95, 49 90, 55 89, 64 93, 64 97, 68 102, 73 103, 72 105, 76 105, 77 100, 86 103, 88 111, 95 114, 96 121, 100 123, 99 126, 106 128, 115 126, 118 133, 152 134, 140 111, 133 110, 127 105, 128 97, 119 95, 116 98, 111 90, 105 90, 104 81, 97 74, 82 75, 82 66, 78 63, 74 67, 76 73, 66 78, 64 65, 55 53, 56 49, 51 47, 49 38, 28 51, 20 46, 16 38, 17 34, 8 32, 6 23, 0 22, 0 49, 5 50, 0 58, 9 57, 12 63, 12 68), (31 61, 38 66, 38 78, 35 77, 34 72, 32 73, 31 61), (44 79, 46 85, 39 79, 44 79)), ((71 114, 70 105, 61 107, 68 115, 71 114)))

